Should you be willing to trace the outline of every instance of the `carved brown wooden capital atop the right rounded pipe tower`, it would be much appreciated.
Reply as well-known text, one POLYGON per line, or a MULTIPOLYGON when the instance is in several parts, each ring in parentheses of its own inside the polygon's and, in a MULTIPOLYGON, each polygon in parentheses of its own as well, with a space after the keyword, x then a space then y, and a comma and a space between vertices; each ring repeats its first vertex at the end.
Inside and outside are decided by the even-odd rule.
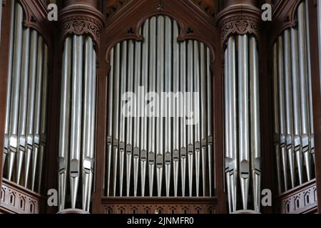
POLYGON ((248 4, 237 4, 223 9, 218 14, 222 44, 224 45, 233 34, 252 34, 258 40, 260 37, 260 17, 260 10, 248 4))

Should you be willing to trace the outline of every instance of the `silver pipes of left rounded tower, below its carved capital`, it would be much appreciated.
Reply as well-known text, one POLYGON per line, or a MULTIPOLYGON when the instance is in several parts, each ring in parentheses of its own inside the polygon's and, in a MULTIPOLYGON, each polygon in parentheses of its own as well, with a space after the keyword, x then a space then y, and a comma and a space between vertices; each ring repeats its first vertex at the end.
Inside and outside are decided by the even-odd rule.
POLYGON ((58 151, 58 209, 89 211, 93 185, 96 51, 89 36, 64 41, 58 151), (69 193, 67 193, 69 191, 69 193), (66 196, 70 195, 70 202, 66 196), (70 206, 66 207, 66 204, 70 206))

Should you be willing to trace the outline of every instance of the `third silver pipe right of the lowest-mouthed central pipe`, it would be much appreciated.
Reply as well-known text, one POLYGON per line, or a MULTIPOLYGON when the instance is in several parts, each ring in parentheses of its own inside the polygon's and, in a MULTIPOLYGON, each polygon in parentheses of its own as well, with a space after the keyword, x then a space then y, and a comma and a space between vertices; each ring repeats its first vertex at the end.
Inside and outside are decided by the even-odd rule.
MULTIPOLYGON (((186 90, 186 44, 180 43, 180 92, 185 94, 186 90)), ((182 178, 182 196, 185 197, 185 180, 186 180, 186 153, 187 153, 187 135, 186 135, 186 117, 185 117, 185 100, 180 100, 180 173, 182 178), (183 108, 182 108, 183 107, 183 108)))

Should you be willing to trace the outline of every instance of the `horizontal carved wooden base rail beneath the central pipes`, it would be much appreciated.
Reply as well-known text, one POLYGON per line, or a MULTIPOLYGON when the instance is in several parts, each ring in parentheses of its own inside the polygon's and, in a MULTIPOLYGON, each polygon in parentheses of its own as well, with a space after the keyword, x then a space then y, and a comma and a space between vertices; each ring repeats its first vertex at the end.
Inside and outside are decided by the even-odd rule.
POLYGON ((215 199, 102 199, 104 214, 216 214, 215 199))

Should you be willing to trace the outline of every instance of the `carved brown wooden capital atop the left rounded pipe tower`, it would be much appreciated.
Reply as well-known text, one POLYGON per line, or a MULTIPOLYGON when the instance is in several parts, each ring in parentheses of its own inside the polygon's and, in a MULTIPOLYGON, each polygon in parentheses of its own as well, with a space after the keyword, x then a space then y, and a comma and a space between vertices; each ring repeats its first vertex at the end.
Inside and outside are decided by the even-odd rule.
POLYGON ((99 44, 101 31, 105 24, 103 14, 91 6, 68 6, 61 11, 61 39, 70 34, 88 34, 99 44))

